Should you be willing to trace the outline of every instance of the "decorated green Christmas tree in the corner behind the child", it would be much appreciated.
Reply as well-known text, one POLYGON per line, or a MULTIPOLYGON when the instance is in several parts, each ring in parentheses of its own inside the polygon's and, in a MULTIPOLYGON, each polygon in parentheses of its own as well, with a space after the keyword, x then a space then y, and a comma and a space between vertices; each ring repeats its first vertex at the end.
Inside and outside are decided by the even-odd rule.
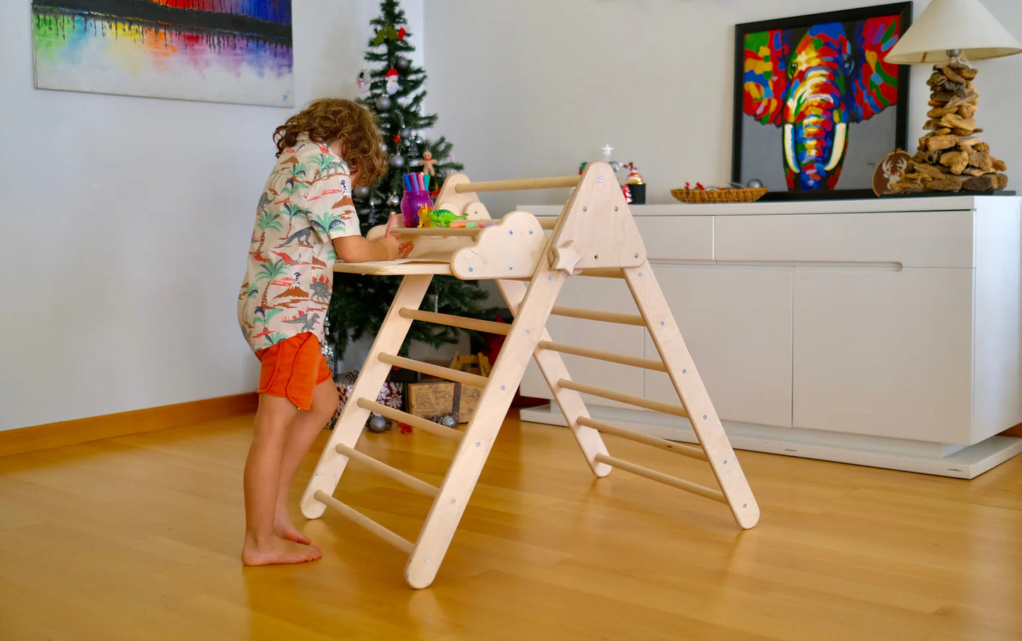
MULTIPOLYGON (((359 102, 376 114, 390 156, 390 168, 377 185, 356 189, 353 194, 363 236, 370 228, 385 224, 390 211, 399 210, 405 172, 425 170, 431 165, 430 192, 435 198, 444 177, 463 168, 453 160, 452 145, 446 138, 431 141, 422 137, 421 132, 436 122, 436 115, 422 113, 426 73, 409 57, 415 48, 409 42, 412 34, 398 1, 383 0, 379 17, 370 23, 373 36, 365 54, 367 68, 358 78, 362 94, 359 102), (423 166, 423 159, 431 162, 423 166)), ((326 341, 337 359, 343 356, 350 339, 372 336, 379 330, 400 284, 399 277, 337 275, 334 278, 326 341)), ((492 315, 491 310, 480 306, 485 299, 486 293, 475 282, 434 277, 422 306, 442 313, 485 317, 492 315)), ((432 347, 455 343, 459 333, 456 328, 413 323, 402 352, 407 353, 412 342, 432 347)))

